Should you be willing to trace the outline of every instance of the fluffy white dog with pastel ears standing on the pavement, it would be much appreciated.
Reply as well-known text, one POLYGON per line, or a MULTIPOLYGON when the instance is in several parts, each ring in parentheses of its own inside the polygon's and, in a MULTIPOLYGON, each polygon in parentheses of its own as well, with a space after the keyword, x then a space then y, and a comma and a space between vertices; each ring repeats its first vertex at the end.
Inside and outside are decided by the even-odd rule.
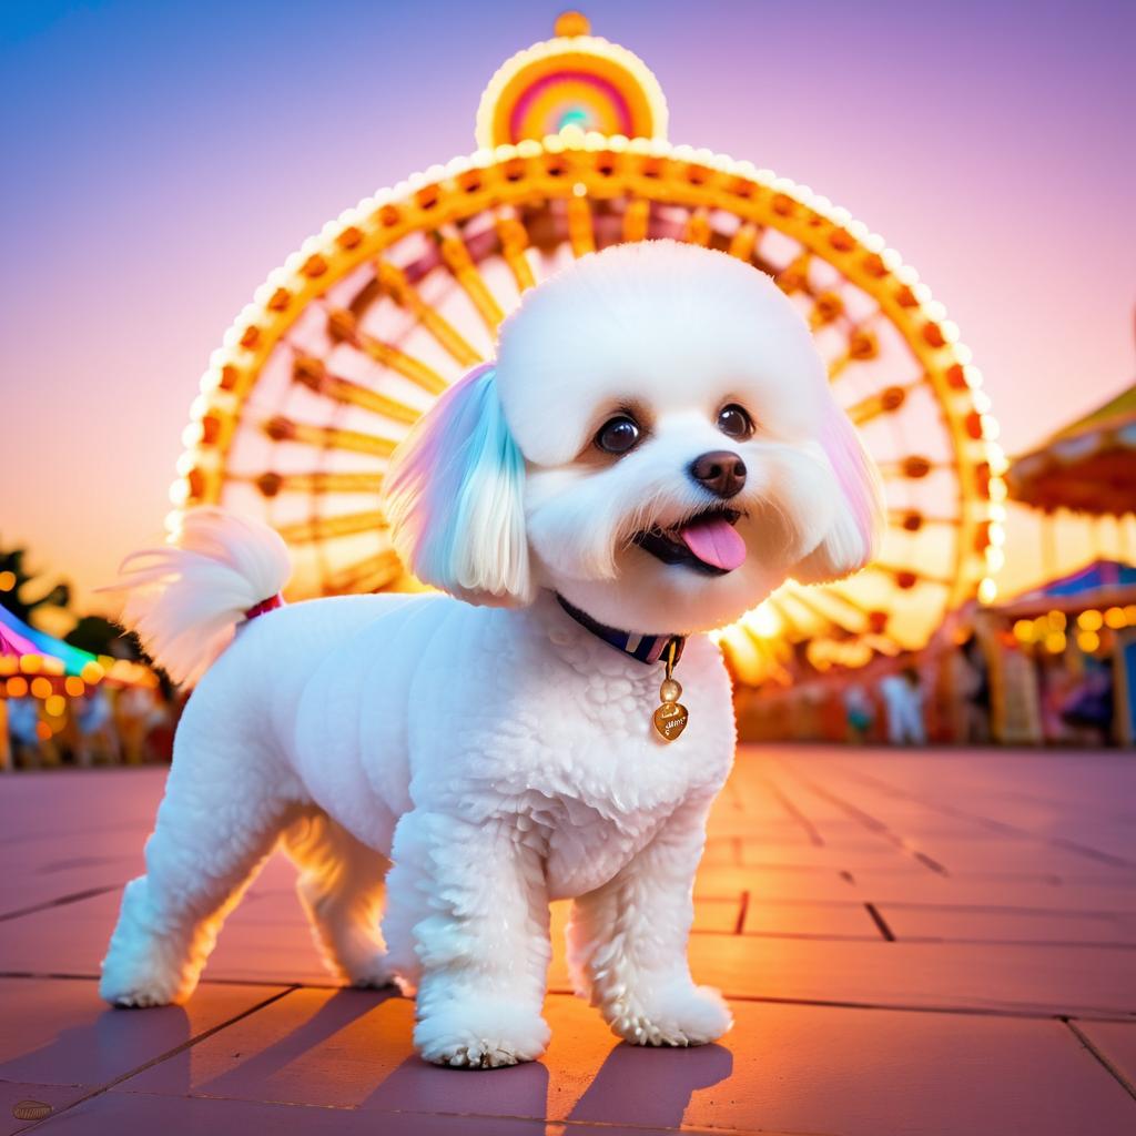
POLYGON ((669 241, 583 258, 525 295, 496 360, 392 459, 395 548, 449 596, 264 613, 283 543, 214 509, 124 566, 126 619, 200 682, 103 996, 187 997, 279 845, 329 968, 417 992, 428 1061, 542 1053, 548 904, 569 896, 575 980, 616 1034, 720 1037, 729 1012, 686 944, 735 735, 698 633, 788 576, 855 571, 880 511, 809 328, 767 276, 669 241), (684 690, 663 693, 688 726, 667 741, 661 660, 684 636, 684 690))

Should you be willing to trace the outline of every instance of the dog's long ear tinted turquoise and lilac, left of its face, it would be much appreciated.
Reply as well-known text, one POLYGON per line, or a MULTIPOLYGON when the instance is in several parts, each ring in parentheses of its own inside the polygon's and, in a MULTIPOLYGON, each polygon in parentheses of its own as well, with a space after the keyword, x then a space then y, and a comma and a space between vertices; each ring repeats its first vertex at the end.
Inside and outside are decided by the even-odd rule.
POLYGON ((475 367, 391 457, 384 496, 395 551, 420 580, 470 603, 531 602, 524 484, 493 367, 475 367))

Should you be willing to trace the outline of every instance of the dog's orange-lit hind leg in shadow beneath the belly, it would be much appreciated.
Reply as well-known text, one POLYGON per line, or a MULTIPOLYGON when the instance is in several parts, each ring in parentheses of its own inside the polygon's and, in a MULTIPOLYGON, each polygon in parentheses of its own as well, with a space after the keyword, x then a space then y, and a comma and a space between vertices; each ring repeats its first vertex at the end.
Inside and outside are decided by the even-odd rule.
POLYGON ((316 808, 285 829, 283 847, 328 970, 353 986, 386 986, 378 917, 390 861, 316 808))

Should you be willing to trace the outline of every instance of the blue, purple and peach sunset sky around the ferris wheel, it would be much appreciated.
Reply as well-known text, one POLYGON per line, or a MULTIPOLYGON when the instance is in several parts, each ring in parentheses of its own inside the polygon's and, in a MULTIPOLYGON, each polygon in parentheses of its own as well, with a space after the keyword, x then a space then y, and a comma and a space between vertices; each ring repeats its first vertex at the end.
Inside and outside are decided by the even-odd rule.
MULTIPOLYGON (((160 535, 198 378, 267 272, 473 150, 486 81, 562 7, 3 5, 0 544, 86 590, 160 535)), ((1011 453, 1133 381, 1136 5, 585 11, 655 72, 671 141, 812 186, 919 269, 1011 453)))

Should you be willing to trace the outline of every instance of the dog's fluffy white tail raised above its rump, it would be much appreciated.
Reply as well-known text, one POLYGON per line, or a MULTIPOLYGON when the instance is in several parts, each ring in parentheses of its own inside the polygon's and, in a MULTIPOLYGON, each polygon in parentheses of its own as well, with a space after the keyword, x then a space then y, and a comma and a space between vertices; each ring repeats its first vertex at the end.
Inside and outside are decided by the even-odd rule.
POLYGON ((118 583, 122 621, 175 683, 195 683, 249 609, 292 574, 287 548, 267 525, 214 506, 182 515, 167 548, 127 557, 118 583))

